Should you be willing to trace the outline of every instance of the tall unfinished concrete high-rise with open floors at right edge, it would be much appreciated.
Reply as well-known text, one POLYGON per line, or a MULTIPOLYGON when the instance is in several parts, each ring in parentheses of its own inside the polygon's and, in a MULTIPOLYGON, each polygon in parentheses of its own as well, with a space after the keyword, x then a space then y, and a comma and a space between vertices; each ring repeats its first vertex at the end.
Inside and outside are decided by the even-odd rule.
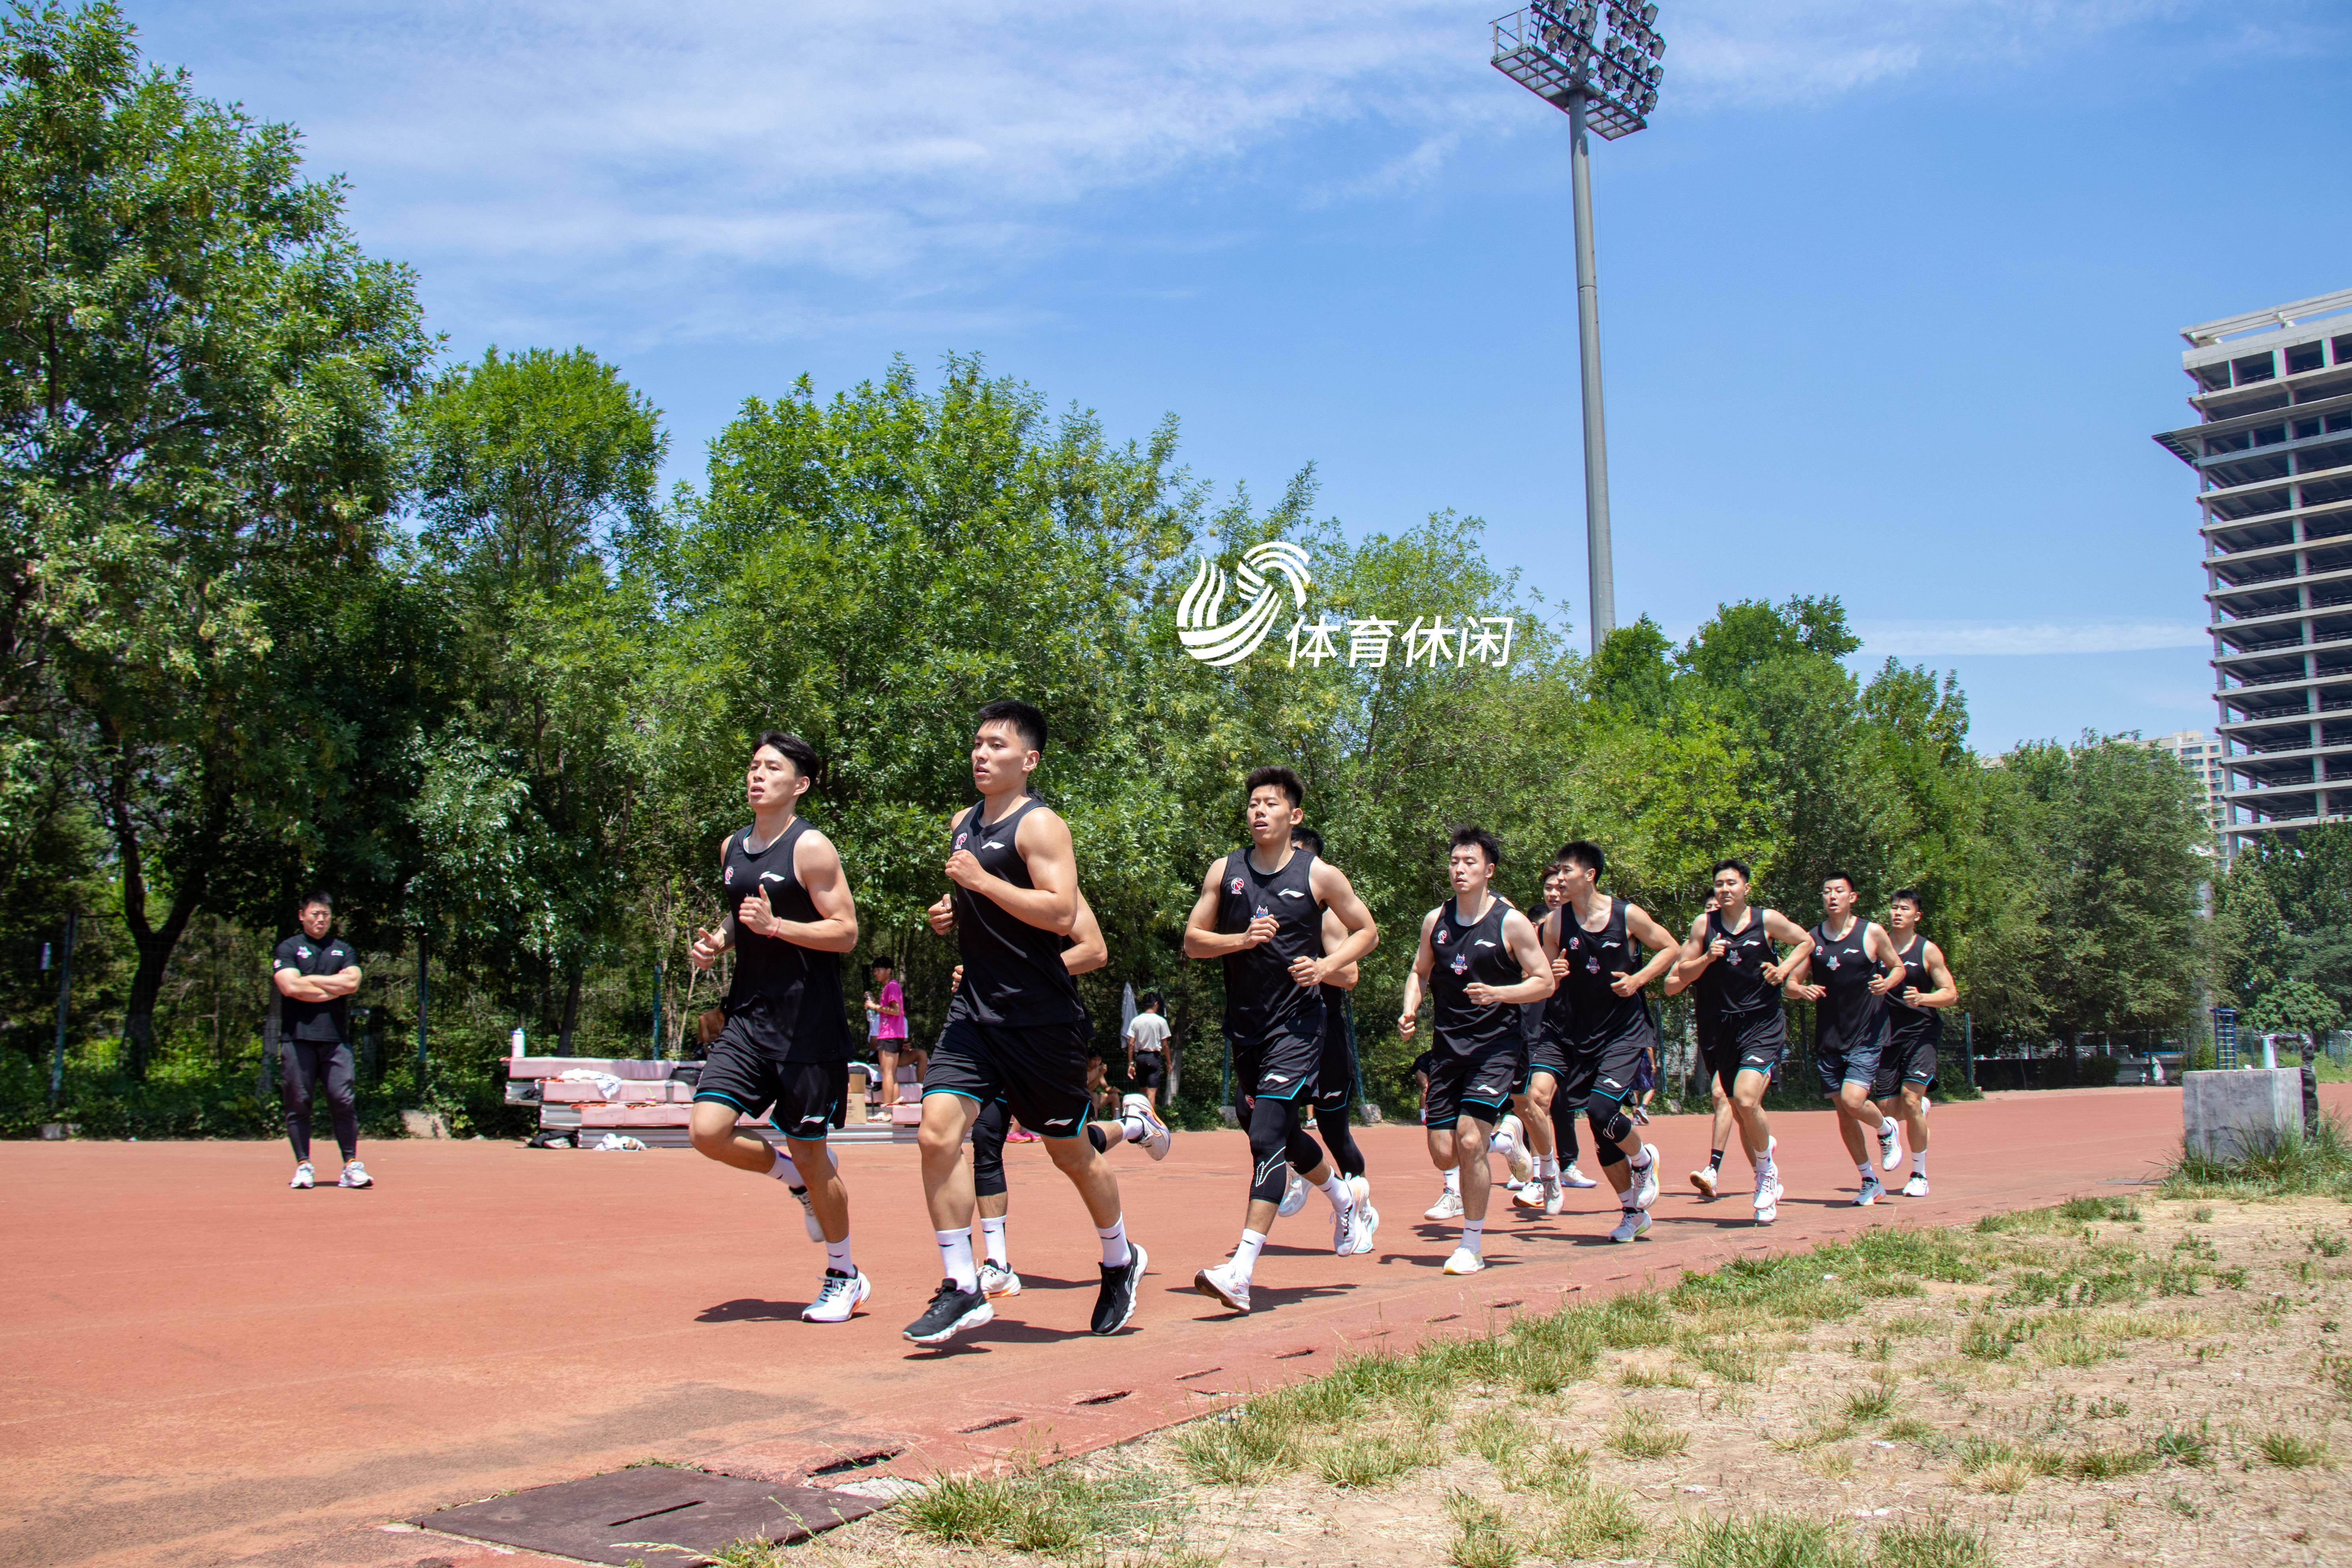
POLYGON ((2352 289, 2180 336, 2234 853, 2352 813, 2352 289))

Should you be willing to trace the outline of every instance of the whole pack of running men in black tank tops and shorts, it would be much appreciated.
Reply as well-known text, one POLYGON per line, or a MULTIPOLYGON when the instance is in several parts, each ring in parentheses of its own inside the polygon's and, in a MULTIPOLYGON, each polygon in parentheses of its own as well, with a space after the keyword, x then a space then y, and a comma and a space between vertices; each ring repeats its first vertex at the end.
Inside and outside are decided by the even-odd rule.
MULTIPOLYGON (((906 1338, 943 1345, 990 1321, 993 1302, 1021 1291, 1004 1246, 1002 1150, 1011 1119, 1040 1135, 1094 1218, 1101 1293, 1091 1331, 1117 1333, 1134 1316, 1148 1258, 1127 1237, 1117 1173, 1105 1157, 1117 1143, 1136 1143, 1162 1159, 1169 1128, 1141 1093, 1120 1100, 1117 1119, 1087 1119, 1089 1023, 1075 976, 1105 964, 1108 952, 1077 886, 1070 827, 1030 790, 1047 722, 1028 703, 1002 701, 981 708, 974 729, 978 804, 948 823, 950 889, 929 910, 931 929, 953 936, 962 959, 931 1048, 917 1131, 943 1279, 906 1338)), ((816 755, 797 736, 769 731, 753 748, 746 773, 753 825, 720 846, 731 907, 717 929, 696 931, 691 947, 701 969, 729 947, 736 966, 689 1131, 706 1157, 774 1175, 795 1194, 811 1241, 826 1246, 826 1274, 802 1316, 837 1324, 873 1291, 851 1255, 849 1197, 826 1150, 849 1063, 840 954, 856 947, 858 924, 840 856, 797 816, 814 773, 816 755), (783 1133, 781 1152, 739 1126, 739 1117, 769 1110, 783 1133)), ((1348 1131, 1357 1079, 1348 992, 1359 959, 1378 943, 1378 926, 1303 825, 1298 776, 1265 766, 1244 788, 1249 844, 1207 867, 1183 933, 1188 957, 1223 964, 1237 1112, 1249 1131, 1240 1244, 1232 1258, 1195 1276, 1195 1288, 1235 1312, 1249 1312, 1251 1276, 1277 1213, 1303 1206, 1310 1187, 1331 1204, 1336 1253, 1369 1253, 1381 1225, 1362 1150, 1348 1131), (1308 1135, 1310 1105, 1322 1143, 1308 1135)), ((1825 919, 1802 931, 1776 910, 1752 910, 1748 867, 1724 860, 1708 912, 1677 943, 1639 905, 1599 891, 1606 863, 1592 844, 1573 842, 1552 860, 1541 922, 1491 889, 1498 865, 1494 835, 1482 827, 1451 835, 1454 898, 1421 922, 1397 1018, 1411 1039, 1423 994, 1432 1001, 1435 1039, 1418 1067, 1430 1159, 1458 1194, 1458 1208, 1430 1211, 1461 1218, 1449 1274, 1484 1267, 1489 1150, 1508 1152, 1526 1178, 1517 1201, 1529 1208, 1559 1213, 1562 1187, 1592 1185, 1576 1171, 1578 1112, 1621 1199, 1611 1239, 1632 1241, 1649 1229, 1658 1152, 1639 1140, 1628 1103, 1639 1063, 1656 1051, 1644 990, 1661 978, 1670 994, 1696 987, 1700 1051, 1717 1084, 1715 1157, 1691 1175, 1705 1197, 1715 1194, 1724 1143, 1738 1128, 1757 1168, 1757 1220, 1771 1222, 1776 1213, 1780 1180, 1762 1098, 1785 1044, 1783 992, 1820 1004, 1813 1056, 1860 1168, 1858 1201, 1872 1204, 1882 1192, 1867 1135, 1893 1171, 1903 1126, 1915 1150, 1905 1192, 1926 1192, 1924 1093, 1936 1077, 1936 1009, 1950 1006, 1957 990, 1943 954, 1917 933, 1917 896, 1896 896, 1889 933, 1853 914, 1849 877, 1830 877, 1825 919), (1790 945, 1785 957, 1776 943, 1790 945), (1529 1030, 1524 1011, 1536 1004, 1541 1025, 1529 1030), (1501 1145, 1498 1131, 1510 1133, 1501 1145), (1566 1152, 1566 1168, 1557 1152, 1566 1152)))

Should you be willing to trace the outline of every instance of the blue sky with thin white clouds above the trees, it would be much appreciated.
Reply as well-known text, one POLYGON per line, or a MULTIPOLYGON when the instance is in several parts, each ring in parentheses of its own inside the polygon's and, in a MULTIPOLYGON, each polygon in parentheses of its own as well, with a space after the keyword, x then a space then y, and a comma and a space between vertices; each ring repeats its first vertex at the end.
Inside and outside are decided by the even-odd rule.
MULTIPOLYGON (((748 395, 983 353, 1585 616, 1566 120, 1486 5, 207 0, 454 357, 586 343, 680 477, 748 395)), ((2352 287, 2352 12, 1665 0, 1595 150, 1618 618, 1839 595, 1973 741, 2209 726, 2176 336, 2352 287)))

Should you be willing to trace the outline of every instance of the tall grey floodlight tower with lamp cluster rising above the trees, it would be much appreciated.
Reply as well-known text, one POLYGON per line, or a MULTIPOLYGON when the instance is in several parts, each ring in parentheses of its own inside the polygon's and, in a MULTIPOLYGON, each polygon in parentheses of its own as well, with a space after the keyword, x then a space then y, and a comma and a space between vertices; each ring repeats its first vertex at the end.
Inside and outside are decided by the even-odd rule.
POLYGON ((1585 559, 1592 571, 1592 651, 1616 630, 1609 562, 1609 437, 1602 423, 1602 299, 1592 277, 1592 153, 1632 136, 1658 106, 1665 40, 1656 5, 1536 0, 1494 24, 1494 68, 1569 113, 1569 183, 1576 205, 1576 357, 1585 393, 1585 559), (1606 24, 1606 26, 1604 26, 1606 24))

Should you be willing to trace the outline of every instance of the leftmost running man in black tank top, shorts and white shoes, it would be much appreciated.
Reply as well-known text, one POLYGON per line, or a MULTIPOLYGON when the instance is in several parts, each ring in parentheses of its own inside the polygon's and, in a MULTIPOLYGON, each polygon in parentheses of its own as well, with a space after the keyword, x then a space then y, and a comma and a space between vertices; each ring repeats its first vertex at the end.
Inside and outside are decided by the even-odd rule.
POLYGON ((849 1192, 826 1133, 849 1093, 849 1030, 842 1018, 842 954, 858 945, 858 907, 833 842, 800 818, 816 750, 767 731, 750 752, 743 799, 750 827, 720 844, 720 884, 734 910, 717 931, 696 931, 687 961, 710 969, 736 950, 727 1025, 694 1086, 687 1138, 736 1171, 774 1175, 800 1199, 811 1241, 826 1244, 826 1279, 804 1324, 844 1324, 873 1293, 849 1255, 849 1192), (783 1154, 736 1128, 774 1105, 783 1154), (804 1175, 814 1173, 814 1175, 804 1175))

